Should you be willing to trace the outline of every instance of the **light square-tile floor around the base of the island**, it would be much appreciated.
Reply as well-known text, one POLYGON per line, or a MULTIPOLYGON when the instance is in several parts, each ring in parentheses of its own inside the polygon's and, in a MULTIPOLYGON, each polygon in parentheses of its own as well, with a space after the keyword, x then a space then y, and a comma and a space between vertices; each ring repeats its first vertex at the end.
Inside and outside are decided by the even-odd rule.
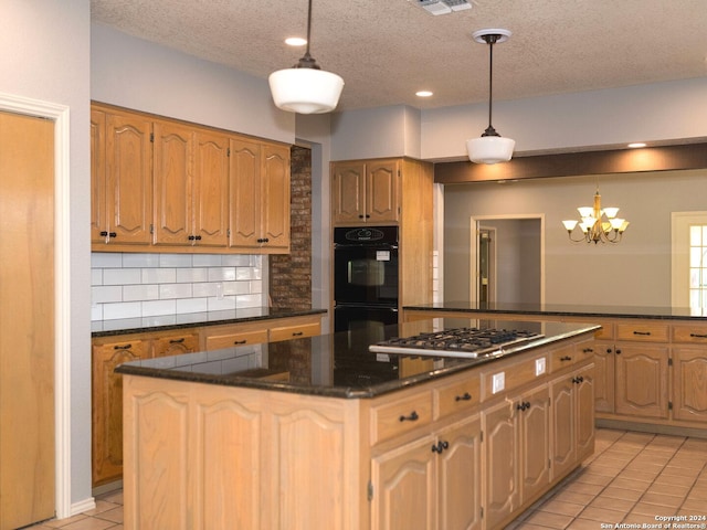
MULTIPOLYGON (((704 529, 705 518, 707 439, 600 428, 594 454, 507 530, 704 529), (671 516, 698 520, 667 527, 656 519, 671 516)), ((97 497, 94 510, 31 529, 123 530, 123 492, 97 497)))

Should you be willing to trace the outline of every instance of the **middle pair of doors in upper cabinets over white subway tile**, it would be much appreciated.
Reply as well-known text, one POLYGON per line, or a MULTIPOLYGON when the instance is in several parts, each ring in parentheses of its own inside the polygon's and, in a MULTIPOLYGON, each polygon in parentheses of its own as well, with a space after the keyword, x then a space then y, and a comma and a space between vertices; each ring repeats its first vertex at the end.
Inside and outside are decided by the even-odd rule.
POLYGON ((229 138, 155 121, 155 244, 225 247, 229 138))

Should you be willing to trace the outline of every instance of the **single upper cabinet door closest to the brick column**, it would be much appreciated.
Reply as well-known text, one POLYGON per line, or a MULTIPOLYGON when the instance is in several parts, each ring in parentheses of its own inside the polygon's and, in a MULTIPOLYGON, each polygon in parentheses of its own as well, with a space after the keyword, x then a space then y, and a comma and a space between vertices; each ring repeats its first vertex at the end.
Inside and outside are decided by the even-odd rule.
POLYGON ((266 144, 261 172, 261 237, 272 250, 289 250, 289 148, 266 144))

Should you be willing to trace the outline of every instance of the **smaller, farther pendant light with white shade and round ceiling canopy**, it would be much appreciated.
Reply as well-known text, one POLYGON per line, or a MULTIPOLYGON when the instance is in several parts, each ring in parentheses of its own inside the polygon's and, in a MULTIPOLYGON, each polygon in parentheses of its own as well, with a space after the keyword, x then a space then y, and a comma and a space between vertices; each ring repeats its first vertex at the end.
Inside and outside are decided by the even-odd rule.
POLYGON ((508 30, 478 30, 472 33, 476 42, 488 44, 488 127, 481 138, 466 140, 466 150, 472 162, 497 163, 507 162, 513 156, 516 141, 503 138, 490 124, 492 105, 494 99, 494 44, 505 42, 510 36, 508 30))

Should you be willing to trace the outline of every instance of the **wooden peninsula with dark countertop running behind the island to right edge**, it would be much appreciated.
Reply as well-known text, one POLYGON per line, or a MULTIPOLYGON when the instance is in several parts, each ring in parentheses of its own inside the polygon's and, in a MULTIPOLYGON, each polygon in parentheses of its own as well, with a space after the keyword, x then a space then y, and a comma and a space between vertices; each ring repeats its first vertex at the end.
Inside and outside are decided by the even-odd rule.
POLYGON ((597 332, 597 424, 707 437, 707 312, 680 307, 550 304, 430 304, 403 319, 589 321, 597 332))

